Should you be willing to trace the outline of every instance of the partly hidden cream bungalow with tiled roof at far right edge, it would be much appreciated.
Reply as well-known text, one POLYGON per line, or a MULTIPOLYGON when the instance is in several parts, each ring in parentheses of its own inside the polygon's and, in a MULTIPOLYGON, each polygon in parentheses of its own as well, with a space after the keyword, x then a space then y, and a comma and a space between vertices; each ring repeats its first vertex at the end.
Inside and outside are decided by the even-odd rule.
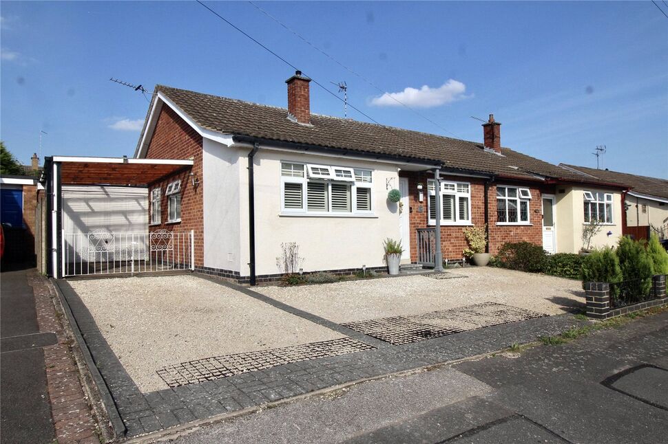
POLYGON ((647 238, 650 232, 654 232, 660 238, 668 238, 668 180, 585 166, 560 166, 595 179, 625 184, 629 191, 625 193, 623 201, 626 209, 624 234, 647 238))

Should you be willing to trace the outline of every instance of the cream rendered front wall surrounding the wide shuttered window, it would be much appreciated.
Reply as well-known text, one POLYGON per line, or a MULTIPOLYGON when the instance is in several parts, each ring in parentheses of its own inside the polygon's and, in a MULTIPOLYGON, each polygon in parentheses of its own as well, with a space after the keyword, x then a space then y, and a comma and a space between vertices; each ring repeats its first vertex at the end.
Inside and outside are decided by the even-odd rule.
MULTIPOLYGON (((241 153, 240 233, 242 276, 249 275, 247 154, 241 153)), ((384 265, 383 240, 397 239, 399 208, 388 203, 390 188, 399 188, 397 166, 381 162, 304 155, 260 149, 255 155, 255 274, 278 274, 276 257, 281 243, 296 242, 304 258, 304 271, 380 267, 384 265), (373 170, 374 217, 309 217, 281 215, 280 163, 304 162, 373 170)))

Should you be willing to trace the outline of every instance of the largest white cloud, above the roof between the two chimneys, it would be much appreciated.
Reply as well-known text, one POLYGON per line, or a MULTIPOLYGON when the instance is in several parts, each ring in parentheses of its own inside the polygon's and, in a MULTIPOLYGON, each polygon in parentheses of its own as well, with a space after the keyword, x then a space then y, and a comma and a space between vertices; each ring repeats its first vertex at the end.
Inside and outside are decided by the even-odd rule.
POLYGON ((438 88, 424 85, 420 89, 407 87, 398 93, 384 93, 382 96, 371 99, 371 104, 377 107, 401 107, 402 104, 416 108, 440 107, 443 104, 468 97, 464 95, 465 92, 466 85, 450 79, 438 88))

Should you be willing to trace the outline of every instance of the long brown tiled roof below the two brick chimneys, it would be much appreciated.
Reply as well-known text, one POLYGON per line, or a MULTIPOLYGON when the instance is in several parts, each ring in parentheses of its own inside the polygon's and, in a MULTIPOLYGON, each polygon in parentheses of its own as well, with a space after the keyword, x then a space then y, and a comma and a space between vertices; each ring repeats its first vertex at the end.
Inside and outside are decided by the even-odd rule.
POLYGON ((156 91, 163 93, 198 125, 210 131, 443 162, 444 166, 455 170, 502 177, 536 180, 536 175, 539 175, 589 181, 585 175, 510 148, 501 148, 502 155, 498 155, 484 149, 479 142, 317 114, 311 115, 310 125, 304 125, 290 120, 284 108, 163 85, 157 85, 156 91))

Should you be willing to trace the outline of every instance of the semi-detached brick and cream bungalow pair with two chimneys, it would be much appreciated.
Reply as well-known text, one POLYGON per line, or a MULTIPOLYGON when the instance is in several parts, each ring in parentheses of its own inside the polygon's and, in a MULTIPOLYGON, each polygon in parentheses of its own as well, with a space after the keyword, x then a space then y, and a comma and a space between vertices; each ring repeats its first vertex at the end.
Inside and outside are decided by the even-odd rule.
POLYGON ((625 185, 502 147, 492 115, 482 142, 328 117, 311 113, 309 82, 286 80, 287 109, 156 87, 135 157, 192 166, 147 181, 149 232, 194 233, 196 271, 273 280, 293 242, 304 272, 382 269, 385 238, 401 239, 402 263, 440 267, 461 262, 471 225, 487 225, 492 254, 578 252, 591 220, 592 246, 623 233, 625 185))

